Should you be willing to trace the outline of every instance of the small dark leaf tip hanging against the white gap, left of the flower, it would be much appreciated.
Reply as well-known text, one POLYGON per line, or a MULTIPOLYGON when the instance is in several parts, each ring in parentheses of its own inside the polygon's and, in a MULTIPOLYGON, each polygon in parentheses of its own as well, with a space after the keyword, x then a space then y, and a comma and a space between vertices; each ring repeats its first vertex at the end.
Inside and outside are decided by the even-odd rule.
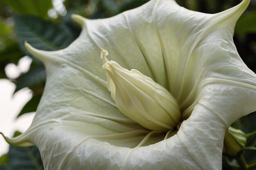
POLYGON ((24 113, 29 113, 29 112, 34 112, 36 111, 36 108, 40 102, 40 99, 41 99, 41 94, 40 95, 35 95, 33 96, 29 102, 27 102, 27 104, 22 108, 22 110, 20 111, 20 114, 18 115, 21 116, 23 115, 24 113))

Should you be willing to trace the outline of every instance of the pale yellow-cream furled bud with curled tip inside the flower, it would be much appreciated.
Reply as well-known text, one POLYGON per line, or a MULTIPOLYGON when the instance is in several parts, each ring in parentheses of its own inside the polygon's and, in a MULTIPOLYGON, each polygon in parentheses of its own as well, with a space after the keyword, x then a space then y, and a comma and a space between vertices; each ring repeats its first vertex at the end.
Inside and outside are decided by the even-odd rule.
POLYGON ((117 108, 144 128, 167 132, 165 138, 168 138, 180 125, 181 112, 176 99, 150 77, 135 69, 122 68, 117 62, 109 61, 106 55, 108 51, 102 49, 108 90, 117 108))

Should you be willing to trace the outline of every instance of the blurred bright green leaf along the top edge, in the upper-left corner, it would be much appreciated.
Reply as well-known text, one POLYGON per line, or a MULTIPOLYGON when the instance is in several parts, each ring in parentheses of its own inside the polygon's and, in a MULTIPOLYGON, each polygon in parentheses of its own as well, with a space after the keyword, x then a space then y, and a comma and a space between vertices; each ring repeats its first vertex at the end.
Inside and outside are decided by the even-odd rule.
POLYGON ((52 0, 5 0, 16 13, 46 17, 52 0))

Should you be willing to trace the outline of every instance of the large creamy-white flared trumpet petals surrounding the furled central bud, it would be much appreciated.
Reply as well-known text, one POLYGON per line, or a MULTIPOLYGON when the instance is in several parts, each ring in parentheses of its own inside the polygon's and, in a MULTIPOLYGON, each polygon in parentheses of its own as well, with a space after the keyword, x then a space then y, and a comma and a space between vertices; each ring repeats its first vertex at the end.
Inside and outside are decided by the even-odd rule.
POLYGON ((256 75, 232 39, 248 4, 206 14, 173 0, 152 0, 107 19, 73 15, 83 30, 66 49, 48 52, 26 44, 45 64, 47 82, 30 128, 5 139, 35 144, 45 170, 220 170, 225 132, 256 110, 256 75), (108 91, 102 47, 110 60, 171 93, 180 108, 179 128, 152 131, 129 110, 119 110, 125 101, 117 101, 117 91, 114 101, 108 91))

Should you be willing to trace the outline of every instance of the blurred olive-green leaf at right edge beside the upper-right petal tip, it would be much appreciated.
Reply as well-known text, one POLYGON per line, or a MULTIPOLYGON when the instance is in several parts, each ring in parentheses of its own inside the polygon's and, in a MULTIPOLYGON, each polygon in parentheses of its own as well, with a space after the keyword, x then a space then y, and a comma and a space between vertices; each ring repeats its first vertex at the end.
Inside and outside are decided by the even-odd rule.
POLYGON ((243 35, 246 33, 256 33, 256 11, 250 11, 242 15, 236 23, 235 33, 243 35))

